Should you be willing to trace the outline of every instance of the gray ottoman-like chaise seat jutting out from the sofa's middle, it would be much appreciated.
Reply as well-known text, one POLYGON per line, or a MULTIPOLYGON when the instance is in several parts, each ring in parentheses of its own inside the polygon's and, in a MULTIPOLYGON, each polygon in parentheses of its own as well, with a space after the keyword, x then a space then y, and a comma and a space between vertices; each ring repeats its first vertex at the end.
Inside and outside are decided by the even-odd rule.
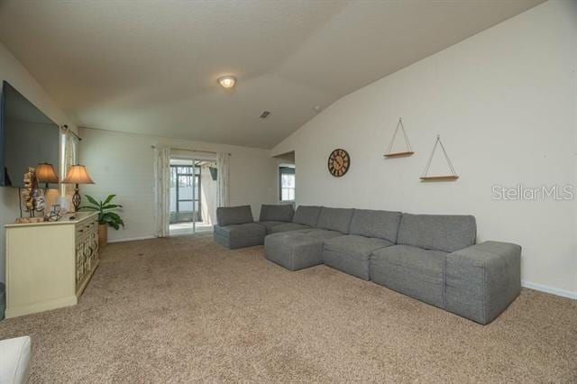
POLYGON ((340 236, 334 231, 291 231, 269 234, 264 256, 288 270, 302 270, 323 263, 323 242, 340 236))

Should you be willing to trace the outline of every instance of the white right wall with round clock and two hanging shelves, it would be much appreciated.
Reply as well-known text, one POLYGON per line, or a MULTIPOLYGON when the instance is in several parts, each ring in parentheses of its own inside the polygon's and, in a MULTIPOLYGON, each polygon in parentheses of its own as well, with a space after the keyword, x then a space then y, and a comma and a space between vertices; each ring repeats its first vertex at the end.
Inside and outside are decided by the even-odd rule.
POLYGON ((577 297, 577 203, 491 199, 577 184, 576 106, 577 2, 550 1, 343 97, 271 154, 296 151, 298 204, 472 214, 479 241, 523 246, 527 286, 577 297), (399 116, 416 154, 384 160, 399 116), (456 182, 419 182, 437 133, 456 182), (352 167, 333 178, 339 147, 352 167))

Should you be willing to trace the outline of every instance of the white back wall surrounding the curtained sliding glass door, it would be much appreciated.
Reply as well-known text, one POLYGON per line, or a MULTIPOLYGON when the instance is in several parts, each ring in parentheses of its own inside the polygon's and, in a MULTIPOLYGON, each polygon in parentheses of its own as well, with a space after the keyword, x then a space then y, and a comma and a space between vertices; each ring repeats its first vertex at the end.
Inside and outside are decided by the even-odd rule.
POLYGON ((269 151, 87 128, 80 128, 80 136, 80 162, 96 182, 80 186, 80 193, 97 198, 116 194, 124 206, 126 226, 118 232, 109 230, 111 241, 151 237, 155 232, 151 145, 230 152, 230 204, 250 204, 258 220, 261 204, 276 202, 276 160, 269 151))

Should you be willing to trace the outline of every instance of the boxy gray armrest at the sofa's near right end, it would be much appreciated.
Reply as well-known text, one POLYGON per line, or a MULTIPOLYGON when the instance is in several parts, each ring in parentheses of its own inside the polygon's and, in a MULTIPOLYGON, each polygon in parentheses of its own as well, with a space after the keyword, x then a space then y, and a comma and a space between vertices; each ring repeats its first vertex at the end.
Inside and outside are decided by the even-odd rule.
POLYGON ((521 247, 481 242, 446 256, 446 309, 489 324, 521 291, 521 247))

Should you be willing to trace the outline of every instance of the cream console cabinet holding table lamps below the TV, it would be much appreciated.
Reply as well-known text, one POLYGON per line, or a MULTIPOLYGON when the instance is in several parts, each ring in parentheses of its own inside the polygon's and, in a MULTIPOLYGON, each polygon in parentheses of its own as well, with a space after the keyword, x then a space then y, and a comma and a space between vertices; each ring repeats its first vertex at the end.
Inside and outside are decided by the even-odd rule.
POLYGON ((98 266, 96 213, 58 222, 7 224, 6 317, 78 303, 98 266))

